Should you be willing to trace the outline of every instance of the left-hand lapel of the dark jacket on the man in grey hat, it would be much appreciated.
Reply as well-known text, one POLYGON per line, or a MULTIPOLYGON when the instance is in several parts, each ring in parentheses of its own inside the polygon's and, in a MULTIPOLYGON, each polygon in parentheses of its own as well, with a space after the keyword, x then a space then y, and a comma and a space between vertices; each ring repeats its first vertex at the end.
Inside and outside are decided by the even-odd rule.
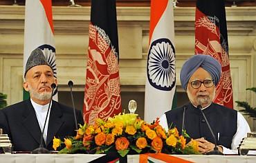
POLYGON ((28 130, 28 133, 33 136, 35 141, 40 144, 40 138, 41 138, 41 129, 39 127, 37 116, 35 116, 35 109, 33 108, 33 105, 31 104, 30 100, 26 100, 27 108, 23 108, 24 112, 22 115, 22 124, 24 124, 24 127, 28 130))

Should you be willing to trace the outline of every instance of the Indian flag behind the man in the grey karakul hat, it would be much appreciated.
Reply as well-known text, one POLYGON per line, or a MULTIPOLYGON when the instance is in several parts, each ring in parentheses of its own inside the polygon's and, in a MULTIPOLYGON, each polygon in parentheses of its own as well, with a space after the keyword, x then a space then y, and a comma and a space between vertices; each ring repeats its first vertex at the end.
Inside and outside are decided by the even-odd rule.
MULTIPOLYGON (((26 0, 24 29, 24 72, 31 52, 39 47, 53 67, 54 77, 57 78, 51 0, 26 0)), ((29 94, 24 90, 24 100, 28 98, 29 94)), ((57 87, 53 98, 57 100, 57 87)))

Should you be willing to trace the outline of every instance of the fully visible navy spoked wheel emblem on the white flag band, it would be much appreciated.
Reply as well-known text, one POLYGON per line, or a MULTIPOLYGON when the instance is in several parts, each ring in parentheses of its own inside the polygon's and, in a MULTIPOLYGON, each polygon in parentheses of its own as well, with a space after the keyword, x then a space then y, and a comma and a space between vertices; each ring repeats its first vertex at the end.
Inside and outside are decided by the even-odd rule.
POLYGON ((158 39, 147 55, 147 78, 156 89, 170 91, 176 83, 175 49, 169 39, 158 39))

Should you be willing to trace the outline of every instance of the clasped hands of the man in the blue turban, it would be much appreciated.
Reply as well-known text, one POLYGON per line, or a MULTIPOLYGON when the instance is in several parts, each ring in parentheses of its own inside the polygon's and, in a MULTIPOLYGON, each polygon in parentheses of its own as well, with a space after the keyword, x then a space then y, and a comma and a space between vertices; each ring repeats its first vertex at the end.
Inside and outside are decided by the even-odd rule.
MULTIPOLYGON (((212 151, 215 147, 215 144, 213 144, 212 142, 208 142, 204 138, 198 138, 196 139, 196 142, 198 142, 199 144, 200 153, 206 153, 206 152, 212 151)), ((219 151, 223 152, 223 149, 221 146, 218 146, 218 149, 219 151)))

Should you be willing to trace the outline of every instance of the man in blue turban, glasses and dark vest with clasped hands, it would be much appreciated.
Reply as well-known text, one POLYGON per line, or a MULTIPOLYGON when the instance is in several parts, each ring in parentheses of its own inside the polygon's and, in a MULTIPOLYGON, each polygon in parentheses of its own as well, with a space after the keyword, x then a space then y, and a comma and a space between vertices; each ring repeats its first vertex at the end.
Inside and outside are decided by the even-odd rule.
POLYGON ((171 125, 177 127, 181 133, 185 109, 183 129, 199 142, 201 153, 212 151, 214 140, 201 111, 196 108, 201 105, 217 139, 219 151, 224 154, 237 153, 236 149, 246 133, 250 132, 250 127, 241 113, 212 102, 216 85, 221 78, 220 63, 212 56, 197 54, 184 63, 180 78, 190 102, 167 111, 161 116, 160 124, 165 130, 171 125))

